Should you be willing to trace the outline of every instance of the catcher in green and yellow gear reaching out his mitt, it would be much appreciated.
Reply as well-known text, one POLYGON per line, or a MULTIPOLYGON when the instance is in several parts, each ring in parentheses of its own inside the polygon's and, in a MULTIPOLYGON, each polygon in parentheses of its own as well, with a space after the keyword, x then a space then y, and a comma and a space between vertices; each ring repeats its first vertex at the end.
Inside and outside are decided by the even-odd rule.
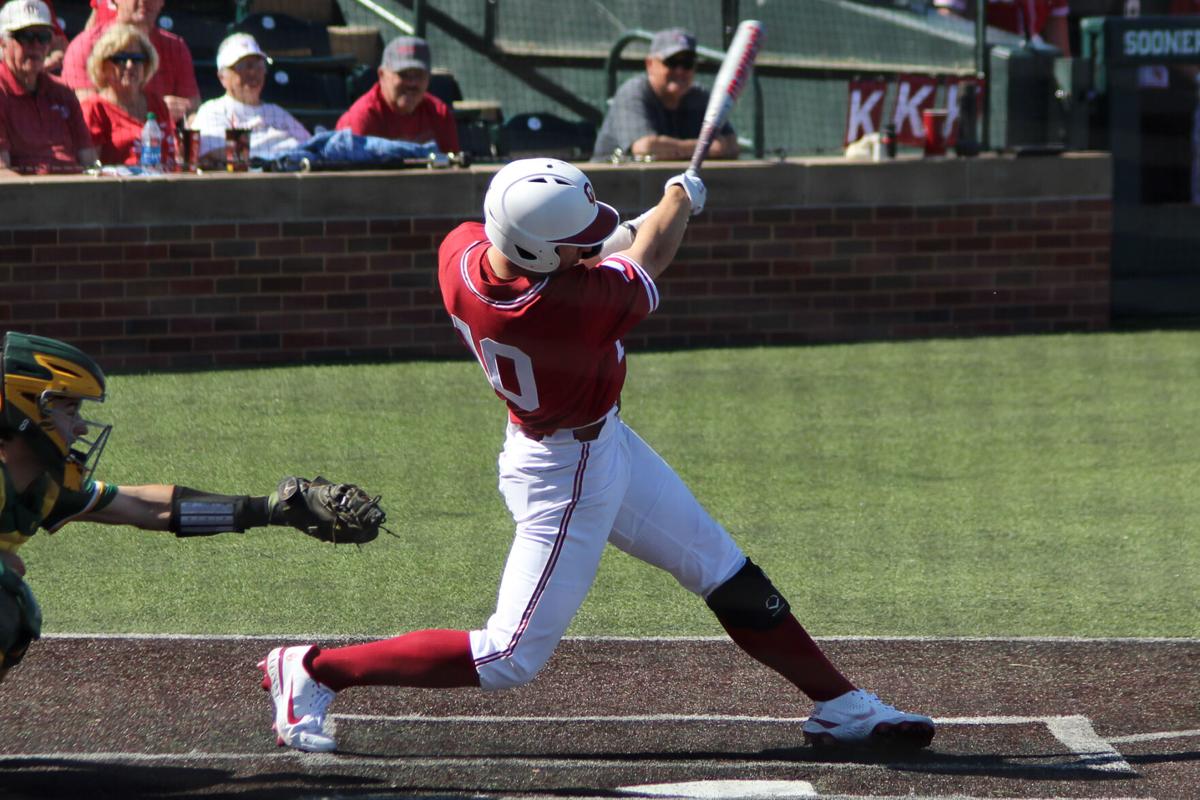
POLYGON ((83 415, 85 401, 104 402, 100 366, 64 342, 8 332, 0 375, 0 681, 41 634, 17 555, 38 528, 54 533, 78 519, 210 536, 292 525, 320 541, 364 543, 385 521, 379 498, 322 477, 286 477, 268 497, 92 480, 112 431, 83 415))

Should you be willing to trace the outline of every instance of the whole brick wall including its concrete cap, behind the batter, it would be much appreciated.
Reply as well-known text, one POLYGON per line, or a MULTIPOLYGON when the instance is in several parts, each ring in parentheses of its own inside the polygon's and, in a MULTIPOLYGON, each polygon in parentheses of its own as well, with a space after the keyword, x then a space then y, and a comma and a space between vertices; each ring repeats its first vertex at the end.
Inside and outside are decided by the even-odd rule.
MULTIPOLYGON (((464 357, 436 248, 494 169, 2 180, 0 326, 109 369, 464 357)), ((636 215, 677 169, 588 174, 636 215)), ((1102 154, 706 166, 708 207, 626 344, 1102 330, 1110 172, 1102 154)))

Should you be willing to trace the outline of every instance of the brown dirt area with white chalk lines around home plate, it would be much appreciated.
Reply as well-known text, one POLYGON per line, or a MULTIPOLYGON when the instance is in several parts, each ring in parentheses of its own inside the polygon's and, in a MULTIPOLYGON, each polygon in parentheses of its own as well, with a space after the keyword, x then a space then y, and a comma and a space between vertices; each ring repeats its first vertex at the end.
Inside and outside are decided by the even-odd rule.
POLYGON ((492 694, 349 690, 340 752, 300 754, 254 668, 281 643, 47 638, 0 686, 0 796, 1200 798, 1200 640, 824 642, 938 718, 916 754, 804 747, 809 703, 708 639, 569 639, 492 694))

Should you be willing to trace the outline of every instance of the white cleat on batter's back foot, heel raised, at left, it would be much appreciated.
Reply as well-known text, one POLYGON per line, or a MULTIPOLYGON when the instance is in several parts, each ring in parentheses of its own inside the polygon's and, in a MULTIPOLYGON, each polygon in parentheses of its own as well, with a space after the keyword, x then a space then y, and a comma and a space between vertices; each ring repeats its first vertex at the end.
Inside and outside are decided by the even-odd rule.
POLYGON ((336 692, 308 674, 304 658, 314 645, 275 648, 258 662, 263 688, 275 705, 276 744, 311 753, 328 753, 337 747, 325 733, 325 709, 336 692))

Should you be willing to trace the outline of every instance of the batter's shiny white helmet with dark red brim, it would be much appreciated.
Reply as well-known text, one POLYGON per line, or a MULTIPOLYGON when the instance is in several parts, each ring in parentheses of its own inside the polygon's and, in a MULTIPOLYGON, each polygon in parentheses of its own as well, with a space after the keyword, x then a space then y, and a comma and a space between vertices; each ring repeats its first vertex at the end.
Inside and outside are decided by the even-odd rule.
POLYGON ((492 178, 484 198, 487 240, 510 261, 533 272, 560 265, 557 247, 599 245, 620 216, 599 203, 592 181, 557 158, 522 158, 492 178))

